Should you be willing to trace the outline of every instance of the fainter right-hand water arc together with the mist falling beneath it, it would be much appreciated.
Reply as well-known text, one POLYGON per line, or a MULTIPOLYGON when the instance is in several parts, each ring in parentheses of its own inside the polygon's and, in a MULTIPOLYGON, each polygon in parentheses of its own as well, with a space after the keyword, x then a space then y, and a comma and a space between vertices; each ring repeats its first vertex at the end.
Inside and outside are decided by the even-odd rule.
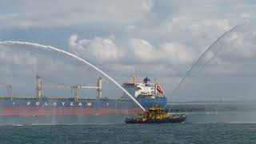
POLYGON ((222 36, 220 36, 212 45, 210 45, 210 47, 197 59, 196 62, 194 62, 194 64, 186 72, 185 76, 178 83, 178 86, 176 86, 174 88, 174 95, 177 92, 178 88, 180 86, 182 86, 182 83, 185 82, 186 78, 190 75, 190 73, 193 70, 196 70, 197 72, 201 71, 203 69, 203 67, 206 66, 206 64, 209 63, 222 50, 222 46, 218 47, 218 49, 212 50, 214 48, 214 46, 219 44, 219 42, 221 42, 222 38, 225 38, 227 35, 231 34, 231 32, 233 32, 234 30, 237 30, 241 26, 242 25, 234 26, 232 29, 230 29, 230 30, 226 31, 224 34, 222 34, 222 36), (207 54, 210 54, 210 53, 212 53, 212 54, 210 55, 210 58, 207 60, 207 58, 206 58, 207 54))

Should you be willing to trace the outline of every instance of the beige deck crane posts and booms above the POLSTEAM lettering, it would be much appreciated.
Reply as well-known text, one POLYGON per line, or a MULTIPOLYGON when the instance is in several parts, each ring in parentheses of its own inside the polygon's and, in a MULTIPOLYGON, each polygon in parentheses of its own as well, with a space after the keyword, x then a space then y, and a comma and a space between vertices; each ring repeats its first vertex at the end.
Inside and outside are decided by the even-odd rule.
MULTIPOLYGON (((95 89, 97 90, 97 98, 102 98, 102 78, 98 78, 98 82, 97 82, 97 86, 82 86, 82 85, 78 85, 78 86, 60 86, 60 85, 50 85, 50 86, 43 86, 42 85, 42 78, 39 77, 38 75, 36 76, 37 79, 37 94, 38 94, 38 98, 41 99, 42 98, 42 89, 68 89, 68 90, 72 90, 74 93, 74 101, 78 101, 78 90, 82 90, 82 89, 95 89)), ((45 78, 44 78, 45 79, 45 78)))

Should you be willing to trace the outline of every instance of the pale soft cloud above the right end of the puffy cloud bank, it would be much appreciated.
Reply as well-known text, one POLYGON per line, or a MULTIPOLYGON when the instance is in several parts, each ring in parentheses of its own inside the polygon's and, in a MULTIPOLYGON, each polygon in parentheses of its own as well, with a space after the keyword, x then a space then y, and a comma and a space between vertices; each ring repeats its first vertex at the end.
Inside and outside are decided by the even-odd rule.
MULTIPOLYGON (((164 39, 167 42, 182 42, 193 46, 195 50, 205 50, 207 45, 210 46, 211 42, 231 27, 229 19, 194 18, 184 15, 166 19, 161 25, 150 31, 142 30, 142 33, 146 38, 154 34, 158 41, 164 39)), ((154 38, 150 40, 155 41, 154 38)))

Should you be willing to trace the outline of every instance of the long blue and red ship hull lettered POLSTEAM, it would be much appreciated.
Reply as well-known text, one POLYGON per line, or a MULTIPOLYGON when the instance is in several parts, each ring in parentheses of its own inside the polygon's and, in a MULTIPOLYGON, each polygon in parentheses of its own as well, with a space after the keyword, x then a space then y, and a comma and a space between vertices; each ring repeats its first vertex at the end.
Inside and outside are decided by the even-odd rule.
MULTIPOLYGON (((147 108, 166 106, 166 98, 138 98, 147 108)), ((78 102, 62 100, 1 100, 0 116, 10 115, 130 115, 142 113, 130 99, 87 99, 78 102)))

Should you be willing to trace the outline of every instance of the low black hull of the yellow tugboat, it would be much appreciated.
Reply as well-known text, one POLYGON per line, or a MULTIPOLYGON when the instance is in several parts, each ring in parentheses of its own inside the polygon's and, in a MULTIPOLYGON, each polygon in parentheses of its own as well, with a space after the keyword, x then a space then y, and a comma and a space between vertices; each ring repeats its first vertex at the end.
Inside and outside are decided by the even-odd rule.
POLYGON ((179 117, 174 118, 162 118, 162 119, 149 119, 146 121, 142 121, 142 119, 138 118, 126 118, 127 124, 134 124, 134 123, 181 123, 185 122, 186 115, 182 114, 179 117))

